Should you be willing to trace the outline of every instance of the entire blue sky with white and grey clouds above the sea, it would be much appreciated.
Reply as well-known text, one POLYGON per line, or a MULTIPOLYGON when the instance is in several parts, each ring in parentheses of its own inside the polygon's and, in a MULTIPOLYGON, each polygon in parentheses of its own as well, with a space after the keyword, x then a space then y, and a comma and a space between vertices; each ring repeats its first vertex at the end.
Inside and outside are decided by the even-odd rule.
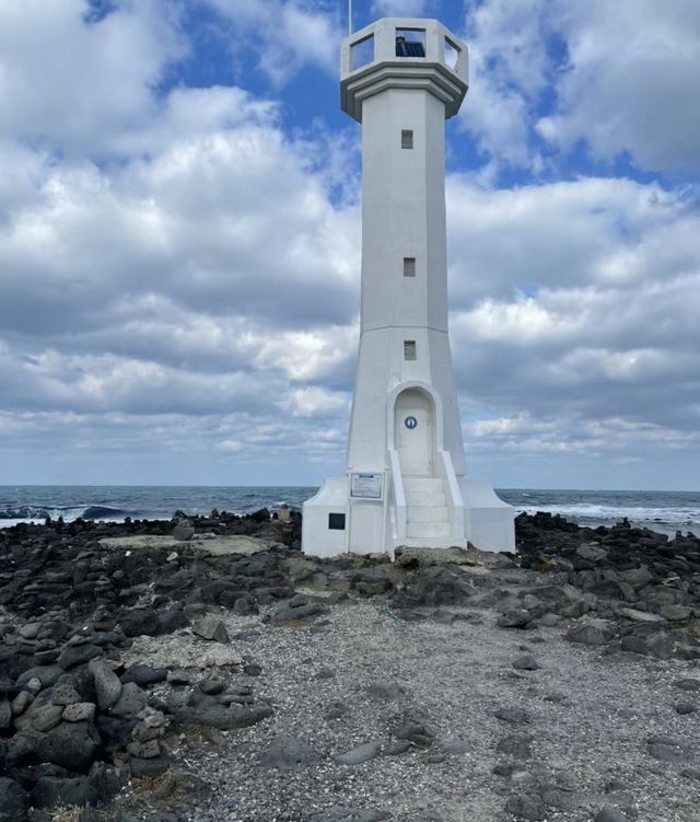
MULTIPOLYGON (((469 46, 468 472, 700 488, 700 3, 354 0, 469 46)), ((345 0, 0 0, 0 484, 317 485, 359 336, 345 0)))

